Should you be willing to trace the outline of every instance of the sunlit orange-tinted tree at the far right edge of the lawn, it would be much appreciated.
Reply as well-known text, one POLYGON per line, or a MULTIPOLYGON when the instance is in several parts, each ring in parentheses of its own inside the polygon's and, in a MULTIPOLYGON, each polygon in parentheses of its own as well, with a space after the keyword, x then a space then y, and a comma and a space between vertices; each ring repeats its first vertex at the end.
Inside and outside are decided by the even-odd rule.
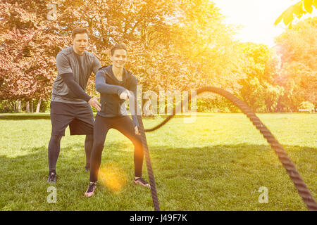
POLYGON ((281 60, 278 83, 285 89, 280 108, 295 111, 303 101, 317 103, 317 18, 303 20, 275 39, 281 60))

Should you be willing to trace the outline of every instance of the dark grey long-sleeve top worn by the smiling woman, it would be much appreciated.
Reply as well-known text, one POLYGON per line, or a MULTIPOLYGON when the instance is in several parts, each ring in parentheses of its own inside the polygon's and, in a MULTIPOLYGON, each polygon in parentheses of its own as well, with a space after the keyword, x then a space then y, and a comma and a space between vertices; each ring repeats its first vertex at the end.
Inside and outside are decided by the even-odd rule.
POLYGON ((112 65, 101 68, 96 73, 95 79, 96 90, 101 94, 101 110, 97 113, 101 117, 118 117, 128 115, 125 107, 125 101, 120 99, 120 94, 128 90, 135 98, 130 98, 130 108, 133 103, 134 112, 131 112, 132 121, 135 126, 137 122, 137 78, 128 70, 123 69, 123 80, 119 81, 112 72, 112 65))

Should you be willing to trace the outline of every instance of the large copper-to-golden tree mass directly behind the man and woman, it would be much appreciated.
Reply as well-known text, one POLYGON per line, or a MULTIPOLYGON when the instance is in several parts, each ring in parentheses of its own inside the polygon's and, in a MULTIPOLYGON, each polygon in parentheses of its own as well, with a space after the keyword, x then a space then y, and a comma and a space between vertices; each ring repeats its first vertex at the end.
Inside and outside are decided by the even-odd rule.
MULTIPOLYGON (((0 0, 0 99, 49 99, 55 57, 70 45, 75 27, 89 30, 91 49, 102 65, 108 50, 124 42, 127 68, 143 90, 190 90, 220 86, 237 91, 242 70, 235 27, 223 23, 208 0, 55 0, 56 20, 47 20, 48 0, 0 0), (15 39, 15 41, 12 41, 15 39)), ((96 95, 94 77, 87 85, 96 95)))

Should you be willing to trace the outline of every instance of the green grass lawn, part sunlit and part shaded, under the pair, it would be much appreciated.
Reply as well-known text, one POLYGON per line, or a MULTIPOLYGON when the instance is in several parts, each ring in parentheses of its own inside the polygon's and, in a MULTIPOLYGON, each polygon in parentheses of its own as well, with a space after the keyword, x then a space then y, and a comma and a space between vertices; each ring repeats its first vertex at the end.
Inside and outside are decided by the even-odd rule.
MULTIPOLYGON (((317 115, 259 114, 285 147, 317 199, 317 115)), ((146 128, 162 118, 144 119, 146 128)), ((106 138, 101 167, 108 178, 92 198, 84 193, 85 136, 66 136, 56 171, 57 203, 50 194, 49 114, 0 115, 0 210, 153 210, 149 189, 135 186, 133 146, 116 130, 106 138)), ((278 156, 243 114, 199 113, 147 133, 161 210, 306 210, 278 156), (259 188, 268 203, 259 203, 259 188)), ((144 160, 144 177, 148 180, 144 160)))

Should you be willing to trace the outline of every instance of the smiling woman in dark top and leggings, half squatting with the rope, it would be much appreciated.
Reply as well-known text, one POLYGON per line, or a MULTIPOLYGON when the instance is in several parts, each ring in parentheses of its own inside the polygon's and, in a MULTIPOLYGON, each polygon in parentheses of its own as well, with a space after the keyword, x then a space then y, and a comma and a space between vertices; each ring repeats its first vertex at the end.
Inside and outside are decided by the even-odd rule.
POLYGON ((101 110, 94 122, 94 145, 90 158, 90 184, 85 196, 90 197, 96 189, 101 153, 109 129, 117 129, 128 137, 135 146, 135 184, 150 187, 142 178, 143 148, 137 122, 137 78, 124 65, 127 62, 127 49, 124 44, 116 44, 111 49, 112 65, 99 69, 96 74, 96 90, 101 94, 101 110), (127 115, 125 101, 129 98, 134 103, 132 120, 127 115))

